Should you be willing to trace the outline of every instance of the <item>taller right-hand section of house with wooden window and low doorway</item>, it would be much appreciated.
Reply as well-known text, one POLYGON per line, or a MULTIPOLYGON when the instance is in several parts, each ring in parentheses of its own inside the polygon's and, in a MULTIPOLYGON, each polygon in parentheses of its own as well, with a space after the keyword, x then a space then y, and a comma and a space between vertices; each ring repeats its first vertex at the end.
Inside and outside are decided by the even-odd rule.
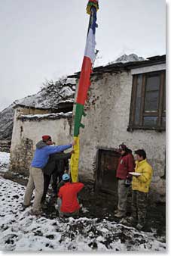
MULTIPOLYGON (((73 76, 72 76, 73 77, 73 76)), ((79 77, 75 73, 74 77, 79 77)), ((154 169, 151 196, 165 200, 166 55, 96 67, 81 123, 81 180, 116 193, 118 145, 144 148, 154 169)))

